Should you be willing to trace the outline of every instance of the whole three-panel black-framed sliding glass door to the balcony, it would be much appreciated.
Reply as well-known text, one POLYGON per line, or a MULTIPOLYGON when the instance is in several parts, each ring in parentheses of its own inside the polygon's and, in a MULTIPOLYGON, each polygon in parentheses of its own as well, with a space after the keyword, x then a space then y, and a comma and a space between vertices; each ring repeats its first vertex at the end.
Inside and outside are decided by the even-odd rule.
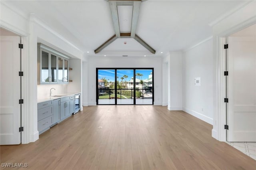
POLYGON ((153 68, 96 68, 97 105, 152 105, 153 68))

